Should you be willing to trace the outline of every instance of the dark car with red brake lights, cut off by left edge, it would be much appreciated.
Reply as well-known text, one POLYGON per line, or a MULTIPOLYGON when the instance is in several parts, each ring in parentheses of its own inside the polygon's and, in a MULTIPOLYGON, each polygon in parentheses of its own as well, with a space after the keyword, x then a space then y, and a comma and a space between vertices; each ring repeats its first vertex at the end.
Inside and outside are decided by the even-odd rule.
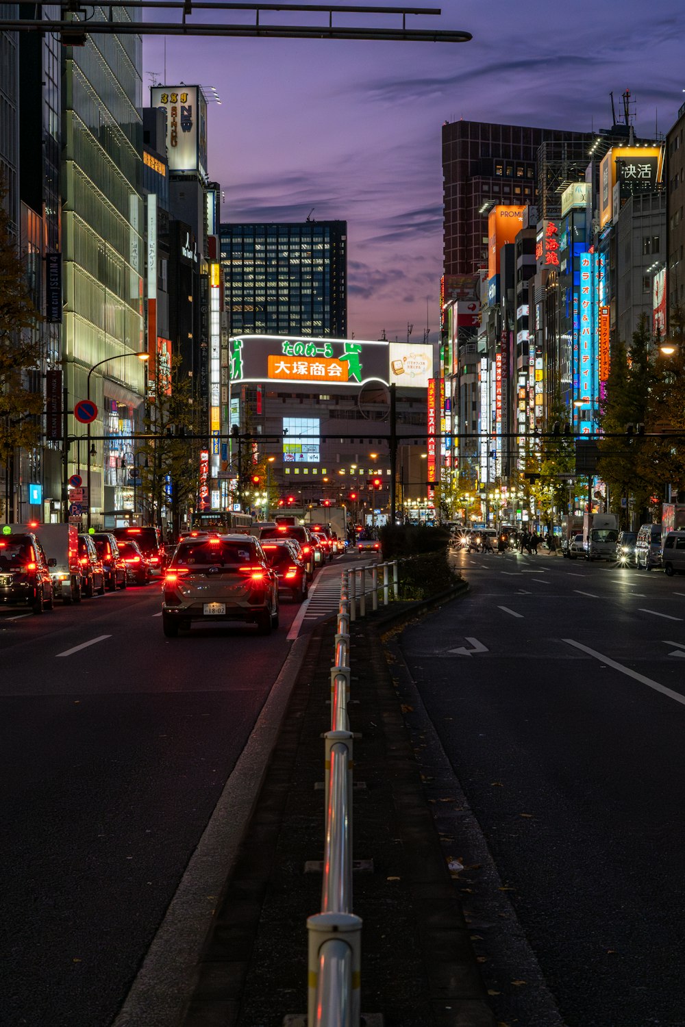
POLYGON ((54 586, 42 545, 32 532, 0 535, 0 604, 30 606, 34 613, 51 610, 54 586))

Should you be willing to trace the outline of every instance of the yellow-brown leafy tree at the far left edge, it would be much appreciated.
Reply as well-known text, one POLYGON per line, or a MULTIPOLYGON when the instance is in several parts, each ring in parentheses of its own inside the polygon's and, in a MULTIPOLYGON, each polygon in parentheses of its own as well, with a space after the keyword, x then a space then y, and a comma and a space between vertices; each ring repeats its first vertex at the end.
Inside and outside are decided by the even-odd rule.
POLYGON ((0 461, 6 468, 5 517, 10 520, 14 453, 40 438, 43 390, 36 388, 41 364, 35 330, 41 320, 33 305, 25 267, 10 231, 0 181, 0 461))

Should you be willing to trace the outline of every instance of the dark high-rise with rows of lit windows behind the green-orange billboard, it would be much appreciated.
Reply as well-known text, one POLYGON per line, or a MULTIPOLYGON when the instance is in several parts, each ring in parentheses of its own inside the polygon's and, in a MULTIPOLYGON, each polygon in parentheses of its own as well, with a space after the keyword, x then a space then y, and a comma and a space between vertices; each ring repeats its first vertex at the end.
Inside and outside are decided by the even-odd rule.
POLYGON ((229 334, 347 335, 347 222, 221 225, 229 334))

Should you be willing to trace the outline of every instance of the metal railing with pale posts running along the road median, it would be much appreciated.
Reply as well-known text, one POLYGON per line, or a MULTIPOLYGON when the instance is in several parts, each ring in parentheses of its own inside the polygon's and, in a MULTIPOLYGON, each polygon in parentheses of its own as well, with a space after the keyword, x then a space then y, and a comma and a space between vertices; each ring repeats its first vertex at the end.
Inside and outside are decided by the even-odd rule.
POLYGON ((307 919, 309 1027, 359 1027, 361 919, 352 913, 352 755, 347 705, 349 625, 366 616, 367 596, 378 609, 397 598, 397 561, 365 565, 341 574, 340 606, 331 671, 331 730, 326 738, 326 838, 321 912, 307 919), (382 583, 379 584, 379 570, 382 583), (390 580, 390 574, 392 580, 390 580), (371 583, 369 586, 369 575, 371 583))

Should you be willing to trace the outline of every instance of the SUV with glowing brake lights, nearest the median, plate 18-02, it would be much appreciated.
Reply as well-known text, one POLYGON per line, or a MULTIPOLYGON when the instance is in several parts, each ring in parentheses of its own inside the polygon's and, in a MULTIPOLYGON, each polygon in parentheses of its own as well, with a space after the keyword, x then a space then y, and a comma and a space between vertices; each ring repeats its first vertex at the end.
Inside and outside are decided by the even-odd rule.
POLYGON ((194 621, 241 620, 259 635, 278 626, 278 577, 253 535, 200 535, 179 542, 166 568, 162 630, 177 638, 194 621))

